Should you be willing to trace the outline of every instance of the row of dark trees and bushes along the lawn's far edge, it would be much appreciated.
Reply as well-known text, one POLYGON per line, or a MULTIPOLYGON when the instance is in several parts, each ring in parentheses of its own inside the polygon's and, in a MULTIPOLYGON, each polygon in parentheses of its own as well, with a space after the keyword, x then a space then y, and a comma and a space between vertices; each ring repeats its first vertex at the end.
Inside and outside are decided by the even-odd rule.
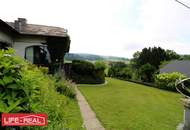
POLYGON ((176 59, 180 59, 180 55, 173 50, 164 50, 161 47, 144 48, 135 52, 128 64, 111 62, 108 77, 154 83, 159 67, 176 59))

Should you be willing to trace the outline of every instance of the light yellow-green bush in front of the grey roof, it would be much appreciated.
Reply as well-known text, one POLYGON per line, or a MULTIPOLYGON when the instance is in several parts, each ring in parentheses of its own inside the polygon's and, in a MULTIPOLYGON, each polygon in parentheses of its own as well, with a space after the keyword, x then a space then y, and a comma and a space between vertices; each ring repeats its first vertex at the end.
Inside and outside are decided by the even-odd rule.
POLYGON ((155 77, 155 83, 163 89, 176 91, 175 89, 175 82, 177 79, 184 79, 186 76, 179 72, 173 73, 162 73, 158 74, 155 77))

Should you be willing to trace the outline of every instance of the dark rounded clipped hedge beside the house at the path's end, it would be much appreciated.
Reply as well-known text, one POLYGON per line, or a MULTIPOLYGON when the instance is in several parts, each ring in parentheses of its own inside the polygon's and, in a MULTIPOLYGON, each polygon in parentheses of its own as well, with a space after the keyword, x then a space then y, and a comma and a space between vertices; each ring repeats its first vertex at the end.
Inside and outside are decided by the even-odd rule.
POLYGON ((74 60, 71 66, 70 79, 76 83, 104 83, 106 65, 103 62, 95 62, 95 64, 87 61, 74 60))

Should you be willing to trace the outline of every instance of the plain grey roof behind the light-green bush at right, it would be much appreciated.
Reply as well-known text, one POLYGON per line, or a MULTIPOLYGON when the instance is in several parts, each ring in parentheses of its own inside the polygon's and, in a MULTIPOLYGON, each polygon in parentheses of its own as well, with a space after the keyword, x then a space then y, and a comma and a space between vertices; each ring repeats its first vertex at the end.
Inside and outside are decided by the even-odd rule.
POLYGON ((190 77, 190 61, 171 61, 166 66, 160 69, 160 73, 180 72, 190 77))

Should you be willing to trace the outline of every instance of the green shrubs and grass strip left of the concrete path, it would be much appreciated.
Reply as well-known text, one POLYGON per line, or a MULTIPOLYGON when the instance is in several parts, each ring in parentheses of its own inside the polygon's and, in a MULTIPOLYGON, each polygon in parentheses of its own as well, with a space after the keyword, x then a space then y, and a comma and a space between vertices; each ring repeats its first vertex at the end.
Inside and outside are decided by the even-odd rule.
POLYGON ((0 59, 0 113, 48 114, 47 127, 20 128, 24 130, 82 127, 79 108, 74 96, 71 96, 74 93, 67 81, 60 81, 62 85, 67 85, 67 89, 61 91, 64 95, 59 94, 56 91, 59 82, 54 77, 45 74, 44 68, 38 69, 35 65, 15 56, 14 50, 1 50, 0 59))

